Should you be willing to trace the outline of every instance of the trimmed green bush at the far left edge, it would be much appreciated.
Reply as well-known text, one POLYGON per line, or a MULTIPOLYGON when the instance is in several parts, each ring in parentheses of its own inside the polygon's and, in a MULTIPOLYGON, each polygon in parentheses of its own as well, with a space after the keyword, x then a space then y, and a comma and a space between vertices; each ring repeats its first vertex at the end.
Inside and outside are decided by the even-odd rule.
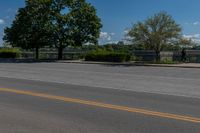
POLYGON ((20 51, 15 48, 2 48, 0 49, 0 58, 18 58, 20 51))

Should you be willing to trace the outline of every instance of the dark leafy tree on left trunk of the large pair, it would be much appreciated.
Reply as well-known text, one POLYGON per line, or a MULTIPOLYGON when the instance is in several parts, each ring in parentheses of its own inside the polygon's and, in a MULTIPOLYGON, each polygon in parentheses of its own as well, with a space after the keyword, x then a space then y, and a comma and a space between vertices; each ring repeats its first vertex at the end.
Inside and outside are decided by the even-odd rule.
POLYGON ((26 0, 25 3, 26 6, 19 9, 11 27, 5 29, 4 40, 15 47, 34 48, 38 59, 39 48, 50 45, 51 0, 26 0))

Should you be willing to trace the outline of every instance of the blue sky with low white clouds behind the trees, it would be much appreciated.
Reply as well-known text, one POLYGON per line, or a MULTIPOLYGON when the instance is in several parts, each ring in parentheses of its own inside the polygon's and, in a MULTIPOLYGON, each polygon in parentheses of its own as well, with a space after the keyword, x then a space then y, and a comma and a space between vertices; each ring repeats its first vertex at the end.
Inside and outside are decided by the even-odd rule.
MULTIPOLYGON (((100 43, 124 40, 126 32, 138 21, 166 11, 181 25, 186 38, 200 41, 200 0, 87 0, 101 18, 100 43)), ((0 0, 0 45, 3 31, 15 18, 24 0, 0 0)))

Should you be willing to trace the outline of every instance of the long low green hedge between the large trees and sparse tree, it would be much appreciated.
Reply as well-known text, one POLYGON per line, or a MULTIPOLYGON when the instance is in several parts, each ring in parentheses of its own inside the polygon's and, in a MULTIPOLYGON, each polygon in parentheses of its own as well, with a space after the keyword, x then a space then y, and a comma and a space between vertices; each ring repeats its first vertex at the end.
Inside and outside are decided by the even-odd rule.
POLYGON ((102 61, 102 62, 125 62, 131 60, 131 55, 127 53, 117 53, 105 50, 97 50, 86 54, 85 60, 102 61))

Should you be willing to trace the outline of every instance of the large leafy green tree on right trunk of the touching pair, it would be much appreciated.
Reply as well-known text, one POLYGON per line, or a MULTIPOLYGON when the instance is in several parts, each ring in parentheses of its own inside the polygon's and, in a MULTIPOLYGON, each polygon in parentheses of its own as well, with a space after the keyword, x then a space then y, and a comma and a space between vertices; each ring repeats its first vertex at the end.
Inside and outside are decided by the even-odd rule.
POLYGON ((102 24, 91 4, 85 0, 55 0, 52 13, 58 59, 69 45, 97 44, 102 24))

